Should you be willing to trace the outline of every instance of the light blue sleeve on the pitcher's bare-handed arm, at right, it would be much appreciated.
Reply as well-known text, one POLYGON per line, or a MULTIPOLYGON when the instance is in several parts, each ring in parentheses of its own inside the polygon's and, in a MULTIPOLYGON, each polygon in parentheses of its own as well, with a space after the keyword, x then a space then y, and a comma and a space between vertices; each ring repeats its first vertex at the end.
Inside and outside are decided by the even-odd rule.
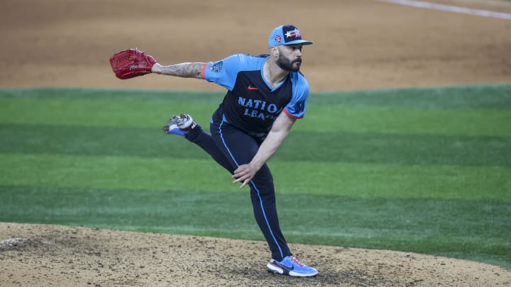
POLYGON ((309 83, 300 73, 294 73, 292 79, 293 94, 291 101, 284 108, 284 113, 291 118, 303 118, 307 110, 309 83))

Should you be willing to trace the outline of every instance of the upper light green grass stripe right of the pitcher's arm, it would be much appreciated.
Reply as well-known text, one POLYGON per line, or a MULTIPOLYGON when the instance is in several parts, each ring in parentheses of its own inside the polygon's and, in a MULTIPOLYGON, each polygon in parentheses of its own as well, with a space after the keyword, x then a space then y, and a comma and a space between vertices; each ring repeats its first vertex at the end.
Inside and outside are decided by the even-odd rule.
POLYGON ((295 130, 344 133, 511 136, 511 110, 309 106, 295 130), (335 115, 335 116, 333 116, 335 115))

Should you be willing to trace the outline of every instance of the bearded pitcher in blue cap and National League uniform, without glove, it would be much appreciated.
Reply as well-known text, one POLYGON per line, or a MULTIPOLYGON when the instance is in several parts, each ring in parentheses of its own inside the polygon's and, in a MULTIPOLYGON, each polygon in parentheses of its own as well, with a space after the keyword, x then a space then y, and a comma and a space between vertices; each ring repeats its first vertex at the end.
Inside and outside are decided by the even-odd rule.
POLYGON ((233 184, 250 186, 253 212, 270 247, 267 270, 290 276, 316 276, 318 271, 293 256, 280 230, 273 176, 266 162, 277 152, 295 120, 304 117, 309 84, 300 73, 300 30, 292 25, 270 34, 270 55, 231 55, 216 62, 162 66, 151 72, 206 79, 227 89, 205 133, 187 114, 173 116, 163 130, 199 145, 231 172, 233 184))

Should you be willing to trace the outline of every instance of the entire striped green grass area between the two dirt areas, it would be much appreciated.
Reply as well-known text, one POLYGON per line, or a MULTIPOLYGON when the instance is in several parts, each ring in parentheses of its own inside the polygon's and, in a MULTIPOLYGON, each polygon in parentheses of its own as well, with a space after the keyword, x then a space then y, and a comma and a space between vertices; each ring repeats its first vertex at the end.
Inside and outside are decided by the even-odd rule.
MULTIPOLYGON (((248 189, 161 127, 223 93, 0 90, 0 221, 263 240, 248 189)), ((310 96, 270 160, 290 242, 511 269, 511 85, 310 96)))

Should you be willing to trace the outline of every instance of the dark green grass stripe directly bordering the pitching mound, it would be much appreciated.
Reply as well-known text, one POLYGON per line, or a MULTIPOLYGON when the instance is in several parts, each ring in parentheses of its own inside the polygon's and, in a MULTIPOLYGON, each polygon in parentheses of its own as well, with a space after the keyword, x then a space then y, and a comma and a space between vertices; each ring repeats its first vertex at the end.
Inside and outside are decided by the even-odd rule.
MULTIPOLYGON (((1 221, 263 240, 244 192, 0 186, 0 193, 1 221)), ((507 203, 318 195, 278 195, 278 203, 290 242, 511 264, 507 203), (296 220, 304 213, 307 220, 296 220)))

